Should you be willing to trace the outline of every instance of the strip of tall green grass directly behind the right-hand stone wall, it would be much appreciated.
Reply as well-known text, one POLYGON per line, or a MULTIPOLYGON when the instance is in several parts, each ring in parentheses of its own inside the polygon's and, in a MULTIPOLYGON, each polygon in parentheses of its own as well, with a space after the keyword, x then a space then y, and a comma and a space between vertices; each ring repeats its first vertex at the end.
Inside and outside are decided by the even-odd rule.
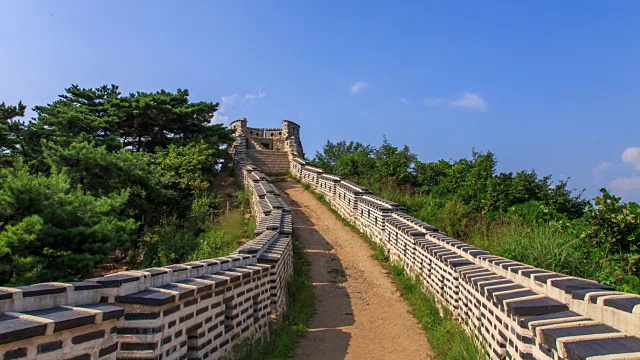
POLYGON ((409 215, 492 254, 570 276, 610 283, 611 269, 584 248, 580 235, 585 224, 581 220, 532 221, 522 218, 522 215, 535 216, 535 213, 498 214, 488 218, 472 212, 455 198, 410 194, 391 182, 373 182, 366 178, 357 181, 378 196, 405 206, 409 215))

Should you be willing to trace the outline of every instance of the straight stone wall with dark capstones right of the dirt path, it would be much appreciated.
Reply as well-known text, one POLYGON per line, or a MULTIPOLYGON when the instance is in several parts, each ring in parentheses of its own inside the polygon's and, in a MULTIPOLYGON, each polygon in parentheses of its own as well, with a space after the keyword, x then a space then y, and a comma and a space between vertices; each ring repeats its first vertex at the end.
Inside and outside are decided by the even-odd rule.
POLYGON ((492 255, 302 158, 291 172, 419 277, 490 358, 640 359, 640 296, 492 255))

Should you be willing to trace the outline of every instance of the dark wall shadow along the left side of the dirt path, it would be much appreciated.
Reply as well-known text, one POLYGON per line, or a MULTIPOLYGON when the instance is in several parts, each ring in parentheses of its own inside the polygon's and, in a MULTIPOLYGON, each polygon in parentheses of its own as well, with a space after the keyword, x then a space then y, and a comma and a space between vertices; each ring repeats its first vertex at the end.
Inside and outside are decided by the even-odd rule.
POLYGON ((291 208, 294 234, 309 259, 313 282, 315 312, 298 353, 305 359, 344 359, 351 334, 338 328, 353 325, 354 315, 351 297, 340 285, 347 281, 342 262, 302 207, 287 195, 287 191, 300 187, 290 181, 275 185, 291 208))

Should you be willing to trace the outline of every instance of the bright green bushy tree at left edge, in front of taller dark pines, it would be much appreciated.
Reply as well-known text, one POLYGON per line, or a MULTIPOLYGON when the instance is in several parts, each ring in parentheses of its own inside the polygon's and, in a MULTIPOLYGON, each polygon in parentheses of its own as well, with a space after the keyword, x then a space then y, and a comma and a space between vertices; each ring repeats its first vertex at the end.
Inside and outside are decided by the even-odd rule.
POLYGON ((128 192, 86 195, 64 173, 0 172, 0 282, 78 279, 126 247, 137 225, 123 216, 128 192))

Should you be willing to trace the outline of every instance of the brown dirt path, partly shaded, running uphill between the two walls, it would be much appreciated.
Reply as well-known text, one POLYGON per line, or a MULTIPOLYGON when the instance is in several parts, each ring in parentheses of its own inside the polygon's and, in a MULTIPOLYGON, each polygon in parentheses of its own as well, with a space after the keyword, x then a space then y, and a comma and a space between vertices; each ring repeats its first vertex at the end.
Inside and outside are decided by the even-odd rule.
POLYGON ((295 358, 433 359, 424 331, 369 245, 297 183, 277 185, 290 197, 314 283, 316 314, 295 358))

